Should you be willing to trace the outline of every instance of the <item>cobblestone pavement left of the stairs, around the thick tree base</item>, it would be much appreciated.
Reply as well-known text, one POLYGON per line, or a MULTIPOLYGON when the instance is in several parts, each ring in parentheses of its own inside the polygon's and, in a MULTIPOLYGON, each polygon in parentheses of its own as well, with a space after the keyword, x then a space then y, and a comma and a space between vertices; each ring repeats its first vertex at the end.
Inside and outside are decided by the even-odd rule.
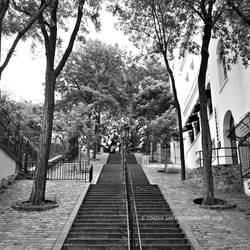
MULTIPOLYGON (((98 155, 94 165, 96 181, 107 154, 98 155)), ((55 199, 59 207, 42 212, 15 211, 11 204, 27 200, 32 181, 20 180, 0 194, 0 249, 52 249, 76 201, 88 184, 83 181, 47 181, 46 199, 55 199)))

